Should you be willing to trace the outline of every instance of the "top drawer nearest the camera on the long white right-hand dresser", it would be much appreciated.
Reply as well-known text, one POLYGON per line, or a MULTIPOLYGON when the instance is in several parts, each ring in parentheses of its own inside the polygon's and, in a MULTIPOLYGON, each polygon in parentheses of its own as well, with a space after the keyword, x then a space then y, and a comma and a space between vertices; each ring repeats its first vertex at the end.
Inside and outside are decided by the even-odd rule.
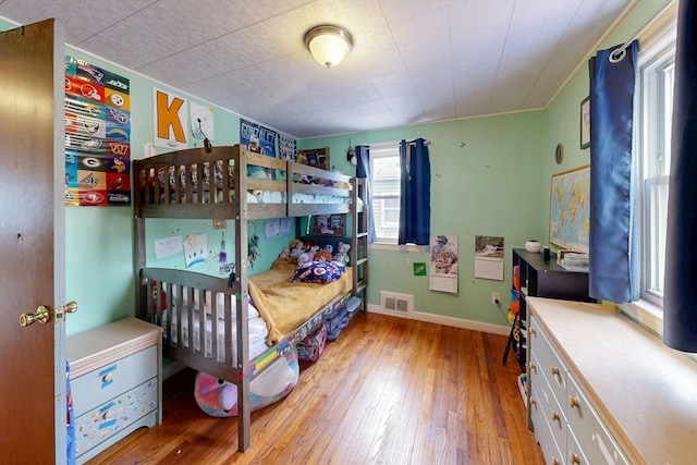
MULTIPOLYGON (((570 429, 574 431, 583 445, 583 455, 588 463, 628 464, 610 432, 602 426, 596 411, 576 383, 573 377, 568 377, 568 396, 566 405, 566 418, 570 429)), ((631 400, 627 400, 632 402, 631 400)))

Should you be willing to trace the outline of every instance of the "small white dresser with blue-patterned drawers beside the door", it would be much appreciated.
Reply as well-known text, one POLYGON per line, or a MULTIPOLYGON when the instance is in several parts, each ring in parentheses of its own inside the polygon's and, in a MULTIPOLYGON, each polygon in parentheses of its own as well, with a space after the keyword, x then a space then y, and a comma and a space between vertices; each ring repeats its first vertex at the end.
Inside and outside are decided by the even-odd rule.
POLYGON ((77 463, 162 423, 161 332, 125 318, 66 339, 77 463))

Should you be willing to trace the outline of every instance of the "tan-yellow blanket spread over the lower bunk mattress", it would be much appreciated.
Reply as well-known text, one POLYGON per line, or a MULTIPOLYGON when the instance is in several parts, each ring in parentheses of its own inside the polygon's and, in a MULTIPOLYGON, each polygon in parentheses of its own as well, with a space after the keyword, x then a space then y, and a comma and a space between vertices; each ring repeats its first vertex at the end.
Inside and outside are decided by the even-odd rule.
POLYGON ((269 271, 249 277, 249 295, 269 330, 267 343, 276 344, 318 310, 351 291, 352 270, 328 284, 291 282, 296 265, 277 262, 269 271))

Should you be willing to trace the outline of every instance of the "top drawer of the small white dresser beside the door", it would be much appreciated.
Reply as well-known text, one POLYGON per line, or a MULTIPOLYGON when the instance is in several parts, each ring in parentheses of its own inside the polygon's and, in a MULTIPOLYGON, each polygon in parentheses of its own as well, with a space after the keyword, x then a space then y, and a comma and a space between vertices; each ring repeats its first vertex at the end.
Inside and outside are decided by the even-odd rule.
POLYGON ((75 417, 157 377, 158 362, 157 346, 152 345, 71 380, 75 417))

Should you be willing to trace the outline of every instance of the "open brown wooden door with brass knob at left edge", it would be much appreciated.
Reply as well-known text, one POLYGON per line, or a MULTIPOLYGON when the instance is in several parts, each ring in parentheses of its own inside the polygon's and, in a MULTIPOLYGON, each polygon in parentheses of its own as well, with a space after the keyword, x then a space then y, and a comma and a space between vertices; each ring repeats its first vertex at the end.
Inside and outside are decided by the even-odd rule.
POLYGON ((64 463, 63 34, 0 33, 0 462, 64 463), (63 182, 61 182, 63 181, 63 182), (47 323, 20 326, 39 306, 47 323))

